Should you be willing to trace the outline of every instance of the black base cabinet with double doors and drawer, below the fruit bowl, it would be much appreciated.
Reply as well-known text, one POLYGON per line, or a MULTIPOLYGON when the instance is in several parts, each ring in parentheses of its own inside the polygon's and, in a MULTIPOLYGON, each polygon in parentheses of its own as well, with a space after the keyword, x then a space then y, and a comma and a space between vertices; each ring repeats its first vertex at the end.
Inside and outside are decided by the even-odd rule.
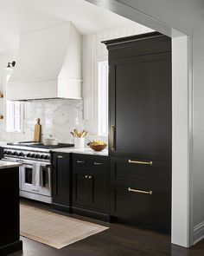
POLYGON ((109 219, 109 174, 102 167, 107 160, 105 156, 73 154, 73 212, 109 219))

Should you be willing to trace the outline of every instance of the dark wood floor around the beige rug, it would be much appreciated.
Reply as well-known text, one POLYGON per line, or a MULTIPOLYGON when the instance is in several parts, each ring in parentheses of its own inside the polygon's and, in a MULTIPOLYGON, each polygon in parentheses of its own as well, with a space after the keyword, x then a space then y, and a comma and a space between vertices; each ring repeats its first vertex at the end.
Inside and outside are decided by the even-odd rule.
MULTIPOLYGON (((33 202, 28 201, 33 204, 33 202)), ((35 203, 35 207, 47 206, 35 203)), ((74 216, 75 217, 75 216, 74 216)), ((80 220, 91 219, 77 217, 80 220)), ((204 241, 190 249, 170 244, 170 237, 160 233, 145 231, 133 226, 112 223, 107 224, 98 220, 91 220, 105 226, 108 230, 98 233, 85 240, 61 250, 22 238, 23 253, 13 253, 12 256, 203 256, 204 241)))

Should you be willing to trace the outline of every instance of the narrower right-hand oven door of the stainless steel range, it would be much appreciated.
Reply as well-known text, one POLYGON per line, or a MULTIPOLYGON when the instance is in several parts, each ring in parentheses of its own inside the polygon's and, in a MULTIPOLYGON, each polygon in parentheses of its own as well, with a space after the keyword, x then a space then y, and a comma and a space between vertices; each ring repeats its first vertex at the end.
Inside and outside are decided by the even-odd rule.
POLYGON ((51 196, 51 167, 48 164, 39 166, 39 194, 51 196))

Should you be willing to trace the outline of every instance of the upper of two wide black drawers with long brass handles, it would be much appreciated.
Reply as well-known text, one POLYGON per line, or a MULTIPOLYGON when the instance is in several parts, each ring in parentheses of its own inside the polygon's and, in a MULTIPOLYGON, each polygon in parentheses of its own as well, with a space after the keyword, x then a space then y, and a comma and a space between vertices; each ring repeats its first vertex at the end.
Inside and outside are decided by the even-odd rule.
POLYGON ((111 158, 112 182, 150 182, 169 186, 171 163, 126 158, 111 158))

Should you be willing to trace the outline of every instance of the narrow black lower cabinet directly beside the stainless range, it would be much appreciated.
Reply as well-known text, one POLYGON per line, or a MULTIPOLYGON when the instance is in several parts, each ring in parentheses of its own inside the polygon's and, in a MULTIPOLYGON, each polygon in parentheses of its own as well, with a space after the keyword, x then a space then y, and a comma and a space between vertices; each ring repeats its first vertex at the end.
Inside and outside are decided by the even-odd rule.
POLYGON ((70 154, 67 153, 54 153, 52 157, 52 207, 66 212, 70 211, 70 161, 70 154))

